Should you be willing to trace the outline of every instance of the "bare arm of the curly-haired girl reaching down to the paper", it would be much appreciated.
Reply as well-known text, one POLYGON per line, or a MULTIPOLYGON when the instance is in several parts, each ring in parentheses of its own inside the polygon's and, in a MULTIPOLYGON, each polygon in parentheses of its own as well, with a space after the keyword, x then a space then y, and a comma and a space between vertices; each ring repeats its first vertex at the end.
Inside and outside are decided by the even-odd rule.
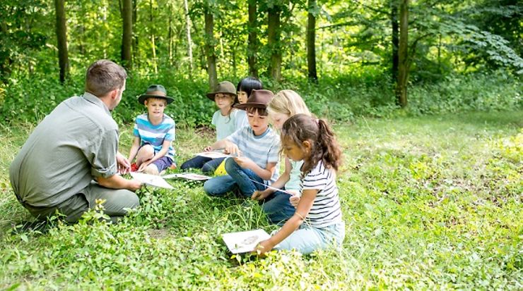
POLYGON ((297 230, 309 214, 317 193, 318 190, 303 190, 302 197, 294 215, 281 227, 278 233, 270 237, 269 240, 259 242, 254 250, 258 252, 258 254, 265 254, 297 230))

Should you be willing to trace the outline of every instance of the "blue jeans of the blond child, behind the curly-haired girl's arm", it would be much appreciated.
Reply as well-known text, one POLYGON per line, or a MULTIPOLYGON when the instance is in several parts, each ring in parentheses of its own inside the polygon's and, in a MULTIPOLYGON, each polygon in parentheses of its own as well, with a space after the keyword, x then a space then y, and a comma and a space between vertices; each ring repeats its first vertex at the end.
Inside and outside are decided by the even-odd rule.
POLYGON ((290 195, 280 191, 267 197, 262 204, 262 209, 269 218, 269 222, 274 224, 285 223, 296 211, 293 204, 290 204, 290 195))

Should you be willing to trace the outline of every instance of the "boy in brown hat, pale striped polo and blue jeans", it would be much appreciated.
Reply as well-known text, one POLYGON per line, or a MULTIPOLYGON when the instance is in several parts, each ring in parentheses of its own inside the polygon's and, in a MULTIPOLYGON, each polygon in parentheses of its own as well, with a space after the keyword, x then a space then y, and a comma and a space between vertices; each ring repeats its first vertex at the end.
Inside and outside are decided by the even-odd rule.
POLYGON ((236 106, 246 109, 249 126, 211 146, 212 149, 224 149, 233 157, 225 159, 228 175, 205 182, 207 194, 217 197, 239 190, 243 197, 251 197, 254 191, 265 190, 264 185, 278 179, 280 137, 269 128, 266 113, 272 97, 274 94, 269 90, 252 90, 247 103, 236 106))

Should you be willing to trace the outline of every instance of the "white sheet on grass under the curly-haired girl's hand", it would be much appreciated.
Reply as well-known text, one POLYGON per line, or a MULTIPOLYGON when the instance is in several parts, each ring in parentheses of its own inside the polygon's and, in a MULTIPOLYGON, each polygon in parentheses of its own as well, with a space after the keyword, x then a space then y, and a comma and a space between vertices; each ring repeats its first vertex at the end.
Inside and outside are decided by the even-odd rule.
POLYGON ((222 235, 223 241, 233 254, 252 252, 258 242, 267 240, 269 237, 271 237, 271 235, 262 229, 240 231, 238 233, 224 233, 222 235))

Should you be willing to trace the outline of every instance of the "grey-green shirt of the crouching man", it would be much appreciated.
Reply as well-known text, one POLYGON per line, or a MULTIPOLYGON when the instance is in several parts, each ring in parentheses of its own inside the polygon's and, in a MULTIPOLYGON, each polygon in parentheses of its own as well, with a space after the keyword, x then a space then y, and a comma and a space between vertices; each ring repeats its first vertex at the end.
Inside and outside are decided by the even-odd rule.
POLYGON ((9 176, 22 202, 54 206, 82 192, 93 177, 117 173, 118 125, 93 94, 61 102, 31 133, 9 176))

